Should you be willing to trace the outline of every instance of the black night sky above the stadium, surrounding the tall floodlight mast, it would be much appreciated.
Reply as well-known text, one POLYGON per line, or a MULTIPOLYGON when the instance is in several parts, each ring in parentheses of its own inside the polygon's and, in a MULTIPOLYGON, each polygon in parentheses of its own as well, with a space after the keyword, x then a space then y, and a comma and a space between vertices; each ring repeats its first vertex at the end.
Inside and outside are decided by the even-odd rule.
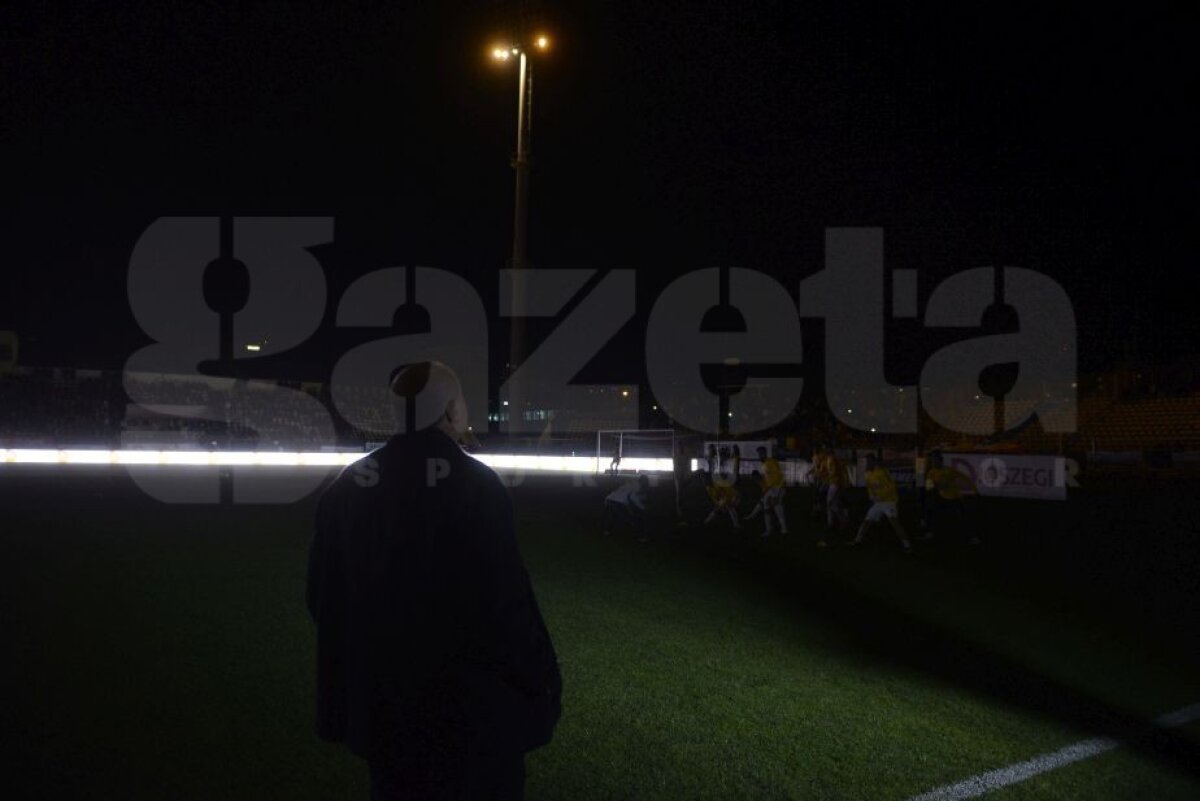
MULTIPOLYGON (((0 329, 25 363, 119 368, 146 342, 125 273, 160 216, 335 216, 331 308, 384 266, 494 296, 516 78, 488 52, 517 4, 346 5, 0 12, 0 329)), ((644 312, 701 267, 794 291, 826 227, 882 225, 923 296, 976 266, 1057 278, 1085 369, 1135 331, 1146 362, 1194 350, 1190 26, 1142 4, 966 5, 526 4, 554 37, 535 66, 533 266, 636 267, 644 312)), ((596 378, 637 379, 643 326, 596 378)), ((257 369, 326 378, 378 336, 324 331, 257 369)))

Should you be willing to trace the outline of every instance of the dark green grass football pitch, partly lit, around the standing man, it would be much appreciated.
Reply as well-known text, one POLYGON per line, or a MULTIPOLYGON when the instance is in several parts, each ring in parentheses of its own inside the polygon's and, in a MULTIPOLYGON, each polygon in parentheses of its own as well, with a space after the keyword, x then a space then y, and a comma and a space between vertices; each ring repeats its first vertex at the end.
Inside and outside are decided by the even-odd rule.
MULTIPOLYGON (((996 501, 983 548, 905 558, 882 529, 815 549, 802 492, 787 538, 606 538, 604 489, 514 488, 565 682, 529 799, 907 799, 1200 701, 1186 492, 996 501)), ((0 475, 0 500, 4 797, 367 797, 312 734, 311 501, 49 474, 0 475)), ((1135 737, 988 797, 1200 797, 1198 742, 1135 737)))

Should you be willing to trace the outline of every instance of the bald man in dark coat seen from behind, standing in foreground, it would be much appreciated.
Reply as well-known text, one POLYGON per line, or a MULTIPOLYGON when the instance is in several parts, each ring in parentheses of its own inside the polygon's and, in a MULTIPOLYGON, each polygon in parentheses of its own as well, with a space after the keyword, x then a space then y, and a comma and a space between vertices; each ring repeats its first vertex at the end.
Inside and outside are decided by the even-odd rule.
POLYGON ((318 735, 367 760, 374 799, 520 799, 562 680, 511 502, 456 442, 450 368, 410 366, 392 392, 413 433, 347 468, 317 510, 318 735))

